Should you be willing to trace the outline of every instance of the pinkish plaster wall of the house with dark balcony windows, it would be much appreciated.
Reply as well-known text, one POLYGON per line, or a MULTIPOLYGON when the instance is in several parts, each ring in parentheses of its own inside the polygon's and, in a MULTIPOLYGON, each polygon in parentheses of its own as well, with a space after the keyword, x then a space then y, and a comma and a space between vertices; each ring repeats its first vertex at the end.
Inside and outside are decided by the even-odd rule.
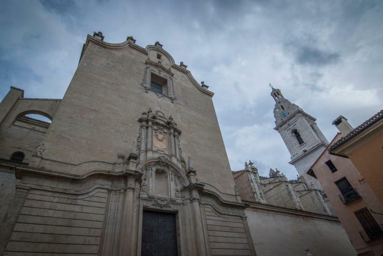
MULTIPOLYGON (((333 141, 337 141, 341 136, 342 135, 340 133, 337 134, 333 141)), ((326 192, 337 217, 342 223, 357 252, 362 253, 363 251, 370 250, 370 246, 363 241, 359 234, 359 231, 362 231, 363 228, 362 225, 360 225, 354 212, 367 207, 368 209, 373 209, 375 212, 382 213, 383 204, 373 193, 367 182, 363 180, 362 175, 358 172, 350 159, 330 155, 326 150, 326 152, 324 152, 324 154, 322 154, 322 156, 319 157, 317 162, 313 165, 312 169, 322 188, 326 192), (329 159, 331 159, 332 163, 337 168, 337 171, 334 173, 332 173, 325 164, 325 162, 329 159), (355 188, 360 194, 361 198, 355 199, 354 201, 350 201, 346 204, 342 203, 339 198, 340 191, 335 182, 343 177, 347 178, 352 187, 355 188)), ((383 215, 373 213, 371 214, 378 224, 383 224, 383 215)), ((378 253, 380 253, 375 255, 383 254, 383 244, 375 245, 373 247, 374 248, 371 248, 372 250, 378 251, 378 253)))

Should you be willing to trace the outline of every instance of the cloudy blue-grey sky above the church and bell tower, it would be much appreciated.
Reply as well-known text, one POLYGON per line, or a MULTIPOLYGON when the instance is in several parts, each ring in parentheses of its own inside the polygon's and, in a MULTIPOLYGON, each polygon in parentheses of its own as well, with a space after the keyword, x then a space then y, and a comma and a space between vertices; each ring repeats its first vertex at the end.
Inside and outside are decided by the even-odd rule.
POLYGON ((330 141, 338 115, 353 127, 383 108, 382 1, 2 1, 0 99, 62 98, 87 34, 160 41, 215 93, 232 170, 296 178, 274 128, 269 83, 317 118, 330 141))

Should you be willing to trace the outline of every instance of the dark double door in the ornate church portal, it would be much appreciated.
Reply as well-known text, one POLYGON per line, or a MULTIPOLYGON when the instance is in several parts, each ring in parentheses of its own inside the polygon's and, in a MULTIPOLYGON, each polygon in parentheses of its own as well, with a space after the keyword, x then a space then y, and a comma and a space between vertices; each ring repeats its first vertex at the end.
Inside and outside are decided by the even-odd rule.
POLYGON ((177 256, 175 214, 143 211, 141 256, 177 256))

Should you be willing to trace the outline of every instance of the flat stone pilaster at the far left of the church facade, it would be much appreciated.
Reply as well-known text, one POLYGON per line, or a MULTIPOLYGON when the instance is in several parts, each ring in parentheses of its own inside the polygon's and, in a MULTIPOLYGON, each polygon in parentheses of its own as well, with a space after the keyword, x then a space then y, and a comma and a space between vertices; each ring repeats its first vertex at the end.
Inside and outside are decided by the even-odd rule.
POLYGON ((7 241, 11 237, 16 220, 19 217, 21 208, 24 205, 25 198, 30 187, 16 185, 15 196, 13 197, 10 207, 5 215, 4 221, 0 226, 0 255, 4 254, 7 241))

